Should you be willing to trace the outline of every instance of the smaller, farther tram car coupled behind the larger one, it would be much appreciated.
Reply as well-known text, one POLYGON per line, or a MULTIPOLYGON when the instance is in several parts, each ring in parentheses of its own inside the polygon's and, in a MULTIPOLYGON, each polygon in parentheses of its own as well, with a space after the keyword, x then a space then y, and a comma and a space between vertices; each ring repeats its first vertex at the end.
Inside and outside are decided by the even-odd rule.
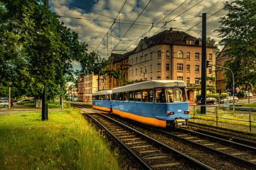
POLYGON ((112 91, 97 91, 92 94, 92 108, 102 111, 112 111, 111 103, 112 91))

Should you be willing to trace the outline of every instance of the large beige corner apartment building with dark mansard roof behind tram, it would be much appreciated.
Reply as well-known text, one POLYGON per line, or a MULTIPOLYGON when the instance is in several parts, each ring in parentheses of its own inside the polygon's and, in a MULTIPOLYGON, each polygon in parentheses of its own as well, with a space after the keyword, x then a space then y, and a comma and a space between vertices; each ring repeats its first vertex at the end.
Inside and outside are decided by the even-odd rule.
MULTIPOLYGON (((208 46, 206 52, 206 60, 215 64, 215 48, 208 46)), ((215 86, 213 69, 207 69, 208 86, 215 86)), ((129 52, 128 72, 129 81, 183 80, 189 100, 195 101, 201 84, 201 39, 172 29, 144 38, 129 52)))

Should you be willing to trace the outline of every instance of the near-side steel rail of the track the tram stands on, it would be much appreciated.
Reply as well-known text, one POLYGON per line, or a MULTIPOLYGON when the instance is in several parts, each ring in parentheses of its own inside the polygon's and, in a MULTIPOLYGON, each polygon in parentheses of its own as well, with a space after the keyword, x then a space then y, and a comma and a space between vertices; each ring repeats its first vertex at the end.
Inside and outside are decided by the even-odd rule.
POLYGON ((227 154, 227 153, 225 153, 225 152, 221 152, 221 151, 219 151, 219 150, 217 150, 217 149, 213 149, 213 148, 207 147, 207 146, 205 146, 205 145, 201 145, 201 144, 199 144, 198 142, 193 142, 193 141, 191 141, 191 140, 186 140, 186 139, 184 139, 183 137, 179 137, 179 136, 177 136, 177 135, 171 134, 171 132, 166 132, 166 131, 164 131, 164 130, 159 130, 159 131, 165 133, 166 135, 170 135, 171 137, 174 137, 174 138, 176 138, 177 140, 186 142, 186 143, 188 143, 188 144, 190 144, 190 145, 194 145, 194 146, 196 146, 196 147, 198 147, 198 148, 206 149, 206 150, 208 150, 208 151, 210 151, 210 152, 213 152, 213 153, 215 153, 215 154, 220 154, 220 155, 222 155, 222 156, 224 156, 224 157, 227 157, 227 158, 229 158, 229 159, 233 159, 233 160, 235 160, 238 164, 240 164, 241 166, 245 166, 245 167, 250 168, 250 169, 251 169, 251 168, 255 168, 255 169, 256 169, 256 164, 253 163, 253 162, 247 161, 247 160, 245 160, 245 159, 241 159, 241 158, 239 158, 239 157, 235 157, 235 156, 233 156, 233 155, 231 155, 231 154, 227 154))

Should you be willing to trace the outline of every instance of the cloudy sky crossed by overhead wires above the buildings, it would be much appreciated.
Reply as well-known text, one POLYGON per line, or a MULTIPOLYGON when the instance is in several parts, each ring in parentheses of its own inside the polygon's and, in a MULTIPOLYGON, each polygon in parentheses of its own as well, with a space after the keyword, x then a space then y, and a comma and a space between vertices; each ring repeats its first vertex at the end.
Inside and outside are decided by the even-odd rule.
MULTIPOLYGON (((134 21, 135 18, 141 13, 144 6, 147 4, 149 0, 129 0, 124 5, 124 8, 121 11, 121 15, 119 18, 122 20, 127 21, 121 21, 119 24, 119 18, 117 18, 116 23, 114 24, 112 28, 112 34, 115 37, 119 37, 124 35, 124 33, 129 28, 129 24, 132 23, 129 21, 134 21)), ((183 0, 185 1, 185 0, 183 0)), ((149 28, 151 28, 151 23, 156 24, 157 22, 161 21, 162 18, 164 18, 168 13, 171 11, 174 11, 174 9, 179 6, 183 1, 180 0, 158 0, 154 1, 152 0, 149 6, 145 9, 145 11, 142 13, 142 16, 139 17, 138 21, 143 21, 146 23, 137 23, 137 24, 143 24, 146 26, 137 26, 134 25, 127 35, 124 37, 123 40, 131 40, 134 38, 138 38, 142 36, 149 28)), ((188 0, 186 3, 183 4, 180 8, 177 8, 176 11, 171 13, 169 17, 167 17, 164 21, 170 21, 172 18, 175 18, 176 16, 180 15, 186 9, 190 8, 194 4, 198 3, 201 0, 188 0)), ((181 16, 178 16, 176 20, 181 20, 185 18, 193 18, 189 20, 182 20, 182 21, 172 21, 166 25, 166 29, 169 29, 170 27, 176 28, 176 30, 185 31, 188 28, 191 28, 196 23, 201 22, 201 18, 198 18, 198 16, 201 16, 202 13, 206 12, 207 16, 210 16, 215 11, 218 11, 220 8, 223 8, 223 3, 226 0, 211 0, 211 1, 202 1, 200 4, 196 5, 194 8, 191 8, 186 13, 183 13, 181 16)), ((75 4, 75 1, 72 2, 75 4)), ((111 26, 111 22, 102 22, 102 21, 114 21, 111 18, 115 18, 117 16, 117 13, 119 12, 120 8, 122 7, 122 4, 124 3, 124 0, 101 0, 97 1, 97 3, 92 6, 92 11, 95 12, 86 12, 79 8, 70 8, 68 7, 68 4, 63 3, 62 1, 58 0, 52 0, 50 1, 51 9, 57 13, 60 16, 70 16, 70 17, 80 17, 80 18, 91 18, 95 20, 100 21, 89 21, 89 20, 78 20, 73 18, 60 18, 61 21, 65 23, 65 26, 68 28, 74 30, 79 34, 80 40, 87 42, 89 45, 88 50, 92 51, 95 50, 95 47, 97 47, 100 44, 100 41, 107 33, 107 30, 109 30, 111 26), (105 16, 99 15, 97 13, 101 13, 102 15, 110 16, 111 18, 107 18, 105 16)), ((77 4, 79 6, 79 4, 77 4)), ((223 16, 224 13, 221 11, 220 13, 216 13, 214 16, 210 17, 207 21, 207 33, 208 37, 214 38, 215 40, 219 41, 220 38, 218 38, 218 32, 214 33, 213 31, 217 29, 220 24, 218 21, 220 21, 220 17, 223 16)), ((158 26, 164 26, 164 23, 159 23, 158 26)), ((154 34, 156 30, 159 30, 159 27, 153 28, 150 32, 150 36, 154 34)), ((201 24, 193 28, 193 30, 188 31, 189 34, 200 38, 201 36, 201 24)), ((147 33, 145 36, 149 36, 149 33, 147 33)), ((99 48, 99 53, 102 55, 102 57, 105 57, 107 55, 107 44, 109 47, 109 52, 111 51, 110 46, 114 47, 119 40, 111 38, 110 36, 107 36, 105 40, 102 41, 99 48), (107 43, 108 38, 108 43, 107 43)), ((137 41, 138 43, 139 41, 137 41)), ((136 47, 137 43, 134 43, 131 47, 129 47, 129 50, 132 50, 132 48, 136 47)), ((131 45, 132 42, 125 41, 120 42, 117 49, 126 49, 129 45, 131 45)))

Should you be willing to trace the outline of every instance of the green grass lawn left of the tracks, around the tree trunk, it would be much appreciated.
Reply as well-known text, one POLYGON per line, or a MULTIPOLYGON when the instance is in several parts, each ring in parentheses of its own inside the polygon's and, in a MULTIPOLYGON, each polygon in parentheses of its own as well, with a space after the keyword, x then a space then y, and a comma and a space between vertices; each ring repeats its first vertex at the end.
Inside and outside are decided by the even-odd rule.
POLYGON ((119 169, 78 110, 0 116, 0 169, 119 169))

